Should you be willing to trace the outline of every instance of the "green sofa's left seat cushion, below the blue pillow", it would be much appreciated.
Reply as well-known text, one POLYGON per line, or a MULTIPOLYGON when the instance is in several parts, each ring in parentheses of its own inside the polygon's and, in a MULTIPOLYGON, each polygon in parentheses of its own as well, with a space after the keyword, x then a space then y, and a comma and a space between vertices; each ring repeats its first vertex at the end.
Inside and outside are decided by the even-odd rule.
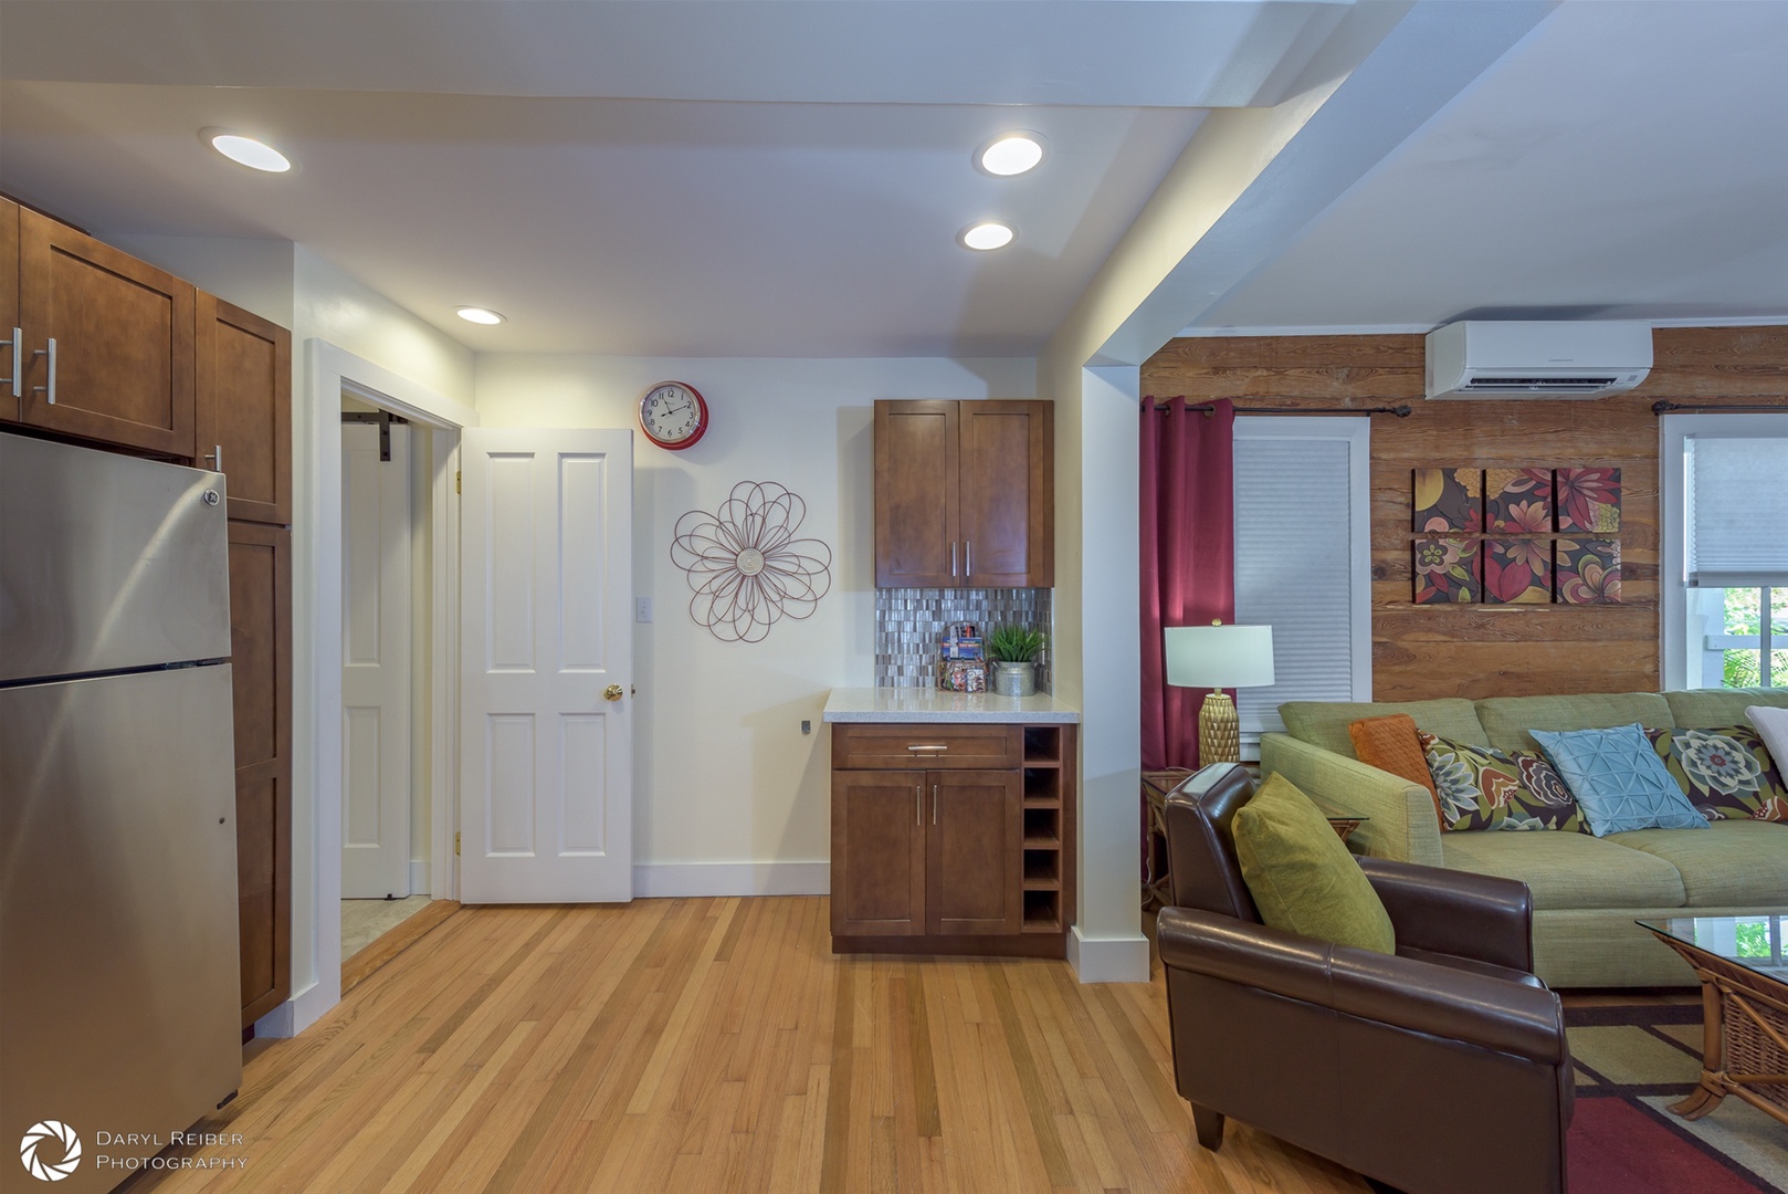
POLYGON ((1588 834, 1441 834, 1441 856, 1454 870, 1520 879, 1536 909, 1681 908, 1686 899, 1665 859, 1588 834))

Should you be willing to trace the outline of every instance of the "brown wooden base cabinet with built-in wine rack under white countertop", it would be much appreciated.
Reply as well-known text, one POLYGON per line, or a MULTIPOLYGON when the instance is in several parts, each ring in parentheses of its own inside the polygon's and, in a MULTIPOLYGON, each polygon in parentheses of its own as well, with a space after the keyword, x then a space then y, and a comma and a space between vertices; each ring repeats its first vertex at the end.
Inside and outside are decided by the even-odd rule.
POLYGON ((1073 725, 835 723, 831 745, 833 951, 1062 956, 1073 725))

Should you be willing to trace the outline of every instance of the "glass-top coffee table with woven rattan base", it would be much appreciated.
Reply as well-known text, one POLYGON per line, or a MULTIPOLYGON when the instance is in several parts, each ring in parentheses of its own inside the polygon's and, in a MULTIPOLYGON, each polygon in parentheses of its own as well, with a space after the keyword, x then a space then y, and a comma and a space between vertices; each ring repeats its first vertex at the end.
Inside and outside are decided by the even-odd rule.
POLYGON ((1788 917, 1640 920, 1700 979, 1700 1088, 1672 1112, 1700 1119, 1736 1096, 1788 1124, 1788 917))

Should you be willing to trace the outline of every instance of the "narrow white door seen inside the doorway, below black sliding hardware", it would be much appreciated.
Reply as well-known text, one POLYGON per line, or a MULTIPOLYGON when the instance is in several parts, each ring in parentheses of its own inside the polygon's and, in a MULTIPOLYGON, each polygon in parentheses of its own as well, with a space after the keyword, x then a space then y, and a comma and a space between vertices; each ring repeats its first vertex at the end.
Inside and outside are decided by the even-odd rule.
POLYGON ((342 428, 342 897, 409 895, 409 428, 342 428))

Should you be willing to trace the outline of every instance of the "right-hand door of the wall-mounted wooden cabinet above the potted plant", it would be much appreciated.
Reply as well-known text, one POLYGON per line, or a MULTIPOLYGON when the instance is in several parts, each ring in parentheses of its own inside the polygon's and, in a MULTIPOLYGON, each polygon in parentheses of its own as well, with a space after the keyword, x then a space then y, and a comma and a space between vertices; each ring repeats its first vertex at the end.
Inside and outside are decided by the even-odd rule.
POLYGON ((1048 589, 1055 584, 1053 406, 991 401, 960 408, 958 584, 1048 589))

